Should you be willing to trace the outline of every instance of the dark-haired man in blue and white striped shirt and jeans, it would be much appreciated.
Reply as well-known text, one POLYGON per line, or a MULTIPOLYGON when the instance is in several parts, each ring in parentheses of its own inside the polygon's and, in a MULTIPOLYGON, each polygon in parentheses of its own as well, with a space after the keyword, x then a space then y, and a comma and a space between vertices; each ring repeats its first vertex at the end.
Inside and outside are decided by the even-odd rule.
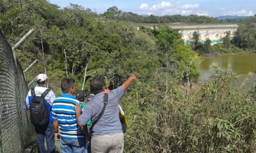
POLYGON ((61 90, 63 93, 52 103, 54 137, 58 139, 60 136, 62 153, 86 152, 86 143, 90 143, 86 141, 89 140, 89 135, 87 126, 80 127, 77 124, 74 105, 80 102, 73 96, 76 92, 75 80, 73 78, 63 79, 61 90))

